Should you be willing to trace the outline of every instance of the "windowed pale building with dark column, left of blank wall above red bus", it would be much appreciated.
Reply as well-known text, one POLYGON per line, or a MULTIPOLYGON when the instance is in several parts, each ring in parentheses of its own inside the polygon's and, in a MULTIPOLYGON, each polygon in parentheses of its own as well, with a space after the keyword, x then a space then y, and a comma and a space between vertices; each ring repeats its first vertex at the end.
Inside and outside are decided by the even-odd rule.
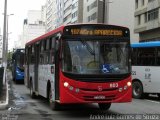
POLYGON ((108 23, 109 0, 84 0, 84 23, 108 23))

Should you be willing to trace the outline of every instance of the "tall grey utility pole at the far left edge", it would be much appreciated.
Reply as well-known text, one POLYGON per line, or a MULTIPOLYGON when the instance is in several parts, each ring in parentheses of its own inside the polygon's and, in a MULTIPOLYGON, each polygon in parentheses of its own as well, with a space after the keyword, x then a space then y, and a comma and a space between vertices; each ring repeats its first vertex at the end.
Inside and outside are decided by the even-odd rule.
POLYGON ((6 64, 6 20, 7 20, 7 0, 5 0, 4 3, 4 24, 3 24, 3 54, 2 54, 2 63, 3 65, 7 65, 6 64))

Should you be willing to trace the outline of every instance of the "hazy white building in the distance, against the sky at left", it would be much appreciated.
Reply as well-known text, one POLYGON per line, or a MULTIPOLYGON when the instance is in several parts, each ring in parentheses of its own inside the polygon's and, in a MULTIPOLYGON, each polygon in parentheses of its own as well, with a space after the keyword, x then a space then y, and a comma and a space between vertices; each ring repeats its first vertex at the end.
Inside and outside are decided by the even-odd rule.
POLYGON ((25 44, 30 40, 39 37, 45 33, 45 22, 44 13, 42 14, 42 10, 30 10, 27 14, 27 19, 24 19, 23 22, 23 32, 22 35, 19 36, 19 41, 16 44, 16 47, 25 47, 25 44))

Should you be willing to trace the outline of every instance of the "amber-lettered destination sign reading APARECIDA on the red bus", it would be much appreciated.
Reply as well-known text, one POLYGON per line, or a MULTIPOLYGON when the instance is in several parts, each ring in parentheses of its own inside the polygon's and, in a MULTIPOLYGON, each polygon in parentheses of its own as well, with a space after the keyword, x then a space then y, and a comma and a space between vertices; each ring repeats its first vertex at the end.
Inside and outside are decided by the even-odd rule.
POLYGON ((71 29, 71 35, 123 36, 122 30, 114 29, 71 29))

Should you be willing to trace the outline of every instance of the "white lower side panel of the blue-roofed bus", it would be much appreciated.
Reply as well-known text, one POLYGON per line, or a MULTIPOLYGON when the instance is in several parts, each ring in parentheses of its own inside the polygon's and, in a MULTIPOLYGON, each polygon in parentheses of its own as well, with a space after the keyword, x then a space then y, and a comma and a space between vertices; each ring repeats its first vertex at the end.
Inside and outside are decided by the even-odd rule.
POLYGON ((159 66, 132 66, 132 72, 132 79, 142 82, 144 93, 160 93, 159 66))

